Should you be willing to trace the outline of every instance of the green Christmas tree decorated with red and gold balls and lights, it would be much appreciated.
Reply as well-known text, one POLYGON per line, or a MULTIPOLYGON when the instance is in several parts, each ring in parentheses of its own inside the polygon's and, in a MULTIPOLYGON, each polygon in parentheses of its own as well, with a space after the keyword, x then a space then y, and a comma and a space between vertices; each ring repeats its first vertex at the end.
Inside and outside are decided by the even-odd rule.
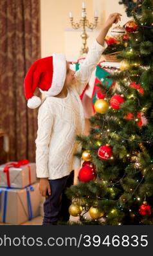
POLYGON ((66 193, 82 224, 153 224, 153 0, 141 9, 125 26, 129 40, 111 75, 118 89, 106 88, 89 136, 76 138, 84 163, 66 193))

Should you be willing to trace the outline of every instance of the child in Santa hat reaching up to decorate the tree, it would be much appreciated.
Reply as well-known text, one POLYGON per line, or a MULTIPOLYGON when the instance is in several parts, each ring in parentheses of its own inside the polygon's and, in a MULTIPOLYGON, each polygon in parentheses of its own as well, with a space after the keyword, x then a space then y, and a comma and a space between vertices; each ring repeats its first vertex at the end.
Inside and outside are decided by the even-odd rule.
POLYGON ((80 160, 74 156, 81 150, 76 134, 84 134, 84 111, 79 95, 107 47, 105 36, 109 28, 121 20, 120 16, 118 13, 109 15, 78 71, 69 68, 64 55, 53 53, 51 57, 34 62, 24 79, 28 107, 33 109, 41 104, 40 98, 33 95, 36 87, 46 95, 39 107, 35 140, 39 189, 46 197, 44 225, 57 224, 62 194, 73 176, 71 171, 80 168, 80 160))

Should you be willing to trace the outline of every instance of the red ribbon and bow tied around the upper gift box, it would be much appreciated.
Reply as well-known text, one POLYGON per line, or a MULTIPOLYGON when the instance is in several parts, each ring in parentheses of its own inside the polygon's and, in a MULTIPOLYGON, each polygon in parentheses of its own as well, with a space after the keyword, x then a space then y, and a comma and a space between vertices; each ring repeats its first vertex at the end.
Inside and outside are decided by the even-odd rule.
MULTIPOLYGON (((6 165, 4 166, 4 169, 3 169, 3 172, 6 172, 6 178, 7 178, 7 184, 8 184, 8 187, 10 187, 10 173, 9 173, 9 170, 11 167, 15 167, 15 168, 19 168, 21 167, 21 165, 28 165, 29 163, 29 160, 20 160, 18 161, 17 163, 6 163, 6 165)), ((30 168, 30 165, 28 165, 28 170, 29 170, 29 181, 30 181, 30 184, 31 184, 31 168, 30 168)))

